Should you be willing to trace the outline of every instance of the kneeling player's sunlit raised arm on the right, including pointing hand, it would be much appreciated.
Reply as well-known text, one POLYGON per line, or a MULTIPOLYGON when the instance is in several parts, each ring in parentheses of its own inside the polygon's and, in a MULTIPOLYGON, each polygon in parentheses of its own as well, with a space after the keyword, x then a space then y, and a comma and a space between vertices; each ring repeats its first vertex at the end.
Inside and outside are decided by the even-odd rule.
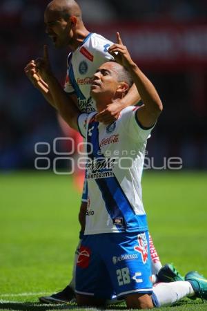
POLYGON ((142 73, 137 64, 132 61, 126 46, 122 44, 119 32, 117 32, 117 39, 119 44, 114 44, 108 52, 115 57, 115 60, 122 66, 125 66, 137 87, 144 105, 137 109, 137 120, 144 128, 153 126, 159 117, 163 106, 155 86, 152 82, 142 73))

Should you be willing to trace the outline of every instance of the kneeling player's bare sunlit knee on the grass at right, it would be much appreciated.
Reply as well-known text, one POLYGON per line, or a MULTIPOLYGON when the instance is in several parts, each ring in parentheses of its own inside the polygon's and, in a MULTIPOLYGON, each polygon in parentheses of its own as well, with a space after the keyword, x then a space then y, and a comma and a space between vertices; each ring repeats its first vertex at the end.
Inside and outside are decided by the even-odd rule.
POLYGON ((151 296, 148 294, 131 294, 126 296, 126 305, 128 309, 152 309, 151 296))

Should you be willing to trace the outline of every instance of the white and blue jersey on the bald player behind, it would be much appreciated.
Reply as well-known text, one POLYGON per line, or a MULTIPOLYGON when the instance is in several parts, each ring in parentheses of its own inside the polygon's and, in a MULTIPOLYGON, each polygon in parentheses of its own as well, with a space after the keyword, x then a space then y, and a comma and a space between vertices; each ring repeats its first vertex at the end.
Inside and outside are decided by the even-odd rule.
POLYGON ((113 57, 108 53, 112 42, 96 33, 90 33, 75 52, 68 55, 68 70, 64 91, 76 93, 81 112, 96 110, 95 101, 90 97, 92 77, 101 64, 113 57))

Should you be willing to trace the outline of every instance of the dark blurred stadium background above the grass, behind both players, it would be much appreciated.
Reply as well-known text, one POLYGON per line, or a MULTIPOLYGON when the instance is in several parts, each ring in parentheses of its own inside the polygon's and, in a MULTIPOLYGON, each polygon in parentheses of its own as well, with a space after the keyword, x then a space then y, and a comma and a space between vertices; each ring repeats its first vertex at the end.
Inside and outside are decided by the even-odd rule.
MULTIPOLYGON (((34 169, 34 144, 62 136, 55 111, 23 73, 48 44, 63 84, 67 50, 44 32, 49 1, 2 0, 0 169, 34 169)), ((205 0, 77 0, 91 32, 115 40, 117 30, 164 103, 148 152, 160 166, 181 157, 184 169, 207 169, 207 6, 205 0)), ((64 148, 62 145, 61 148, 64 148)), ((54 158, 52 151, 49 157, 54 158)))

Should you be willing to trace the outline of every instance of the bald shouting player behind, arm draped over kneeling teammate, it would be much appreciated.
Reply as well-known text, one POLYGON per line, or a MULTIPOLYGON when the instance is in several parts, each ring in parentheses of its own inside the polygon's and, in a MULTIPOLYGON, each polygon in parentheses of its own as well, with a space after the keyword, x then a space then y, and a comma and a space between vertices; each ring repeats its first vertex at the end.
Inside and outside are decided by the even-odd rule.
MULTIPOLYGON (((66 76, 66 84, 64 90, 59 86, 56 93, 52 93, 51 86, 49 87, 46 81, 39 73, 38 59, 32 60, 25 68, 26 75, 34 84, 34 86, 41 91, 46 100, 56 109, 59 100, 67 102, 69 106, 78 106, 79 111, 90 113, 95 111, 95 100, 90 96, 90 86, 92 84, 92 76, 97 68, 103 62, 113 59, 112 55, 108 53, 108 48, 112 45, 111 41, 89 32, 83 24, 81 17, 81 9, 74 0, 53 0, 46 8, 45 15, 46 32, 52 39, 56 48, 69 47, 72 53, 68 55, 68 70, 66 76)), ((109 103, 108 106, 100 111, 96 118, 97 121, 103 124, 110 124, 117 120, 119 113, 126 106, 132 106, 139 102, 140 96, 135 85, 132 85, 126 96, 120 98, 115 103, 109 103)), ((67 106, 59 109, 62 115, 66 115, 67 106)), ((86 209, 88 201, 87 185, 85 185, 82 196, 82 202, 79 212, 79 221, 81 224, 81 233, 84 231, 86 220, 86 209)), ((152 250, 152 270, 158 274, 161 269, 159 257, 155 256, 157 252, 153 247, 151 241, 150 247, 152 250)), ((77 251, 78 252, 78 251, 77 251)), ((75 256, 75 263, 77 255, 75 256)), ((172 274, 172 278, 177 278, 177 272, 174 268, 167 266, 165 274, 172 274)), ((73 270, 75 274, 75 269, 73 270)), ((51 296, 41 297, 43 302, 68 302, 74 296, 74 277, 63 291, 52 294, 51 296)))

